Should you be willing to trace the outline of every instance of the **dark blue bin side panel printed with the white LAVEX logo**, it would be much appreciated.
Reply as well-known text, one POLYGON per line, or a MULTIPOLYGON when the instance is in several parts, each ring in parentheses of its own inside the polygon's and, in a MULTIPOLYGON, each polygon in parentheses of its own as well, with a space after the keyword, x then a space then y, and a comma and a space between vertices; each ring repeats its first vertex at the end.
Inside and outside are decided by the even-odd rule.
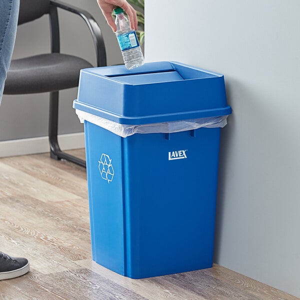
POLYGON ((127 276, 212 266, 219 132, 125 139, 127 276))

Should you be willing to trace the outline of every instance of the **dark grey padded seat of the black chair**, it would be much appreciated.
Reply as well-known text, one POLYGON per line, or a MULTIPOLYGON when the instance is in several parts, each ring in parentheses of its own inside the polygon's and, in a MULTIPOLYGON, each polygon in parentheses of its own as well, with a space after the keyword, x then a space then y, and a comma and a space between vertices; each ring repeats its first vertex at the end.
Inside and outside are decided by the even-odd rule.
POLYGON ((79 57, 49 53, 11 60, 5 94, 56 91, 78 86, 79 71, 92 65, 79 57))

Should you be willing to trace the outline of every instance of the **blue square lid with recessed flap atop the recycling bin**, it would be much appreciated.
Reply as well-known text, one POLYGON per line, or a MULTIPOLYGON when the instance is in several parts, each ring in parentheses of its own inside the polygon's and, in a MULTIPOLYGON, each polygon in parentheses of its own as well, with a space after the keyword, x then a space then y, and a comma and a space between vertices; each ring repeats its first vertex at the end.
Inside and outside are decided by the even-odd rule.
POLYGON ((121 124, 231 113, 222 74, 172 61, 82 69, 73 107, 121 124))

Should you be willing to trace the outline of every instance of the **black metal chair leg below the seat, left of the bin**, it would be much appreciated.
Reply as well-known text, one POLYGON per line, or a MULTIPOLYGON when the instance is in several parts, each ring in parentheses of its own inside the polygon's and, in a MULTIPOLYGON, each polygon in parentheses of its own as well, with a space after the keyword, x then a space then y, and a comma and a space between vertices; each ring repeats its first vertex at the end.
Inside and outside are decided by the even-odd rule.
POLYGON ((50 143, 50 157, 54 159, 65 159, 86 167, 84 160, 67 154, 60 150, 57 141, 57 126, 58 126, 58 91, 50 92, 50 105, 49 105, 49 143, 50 143))

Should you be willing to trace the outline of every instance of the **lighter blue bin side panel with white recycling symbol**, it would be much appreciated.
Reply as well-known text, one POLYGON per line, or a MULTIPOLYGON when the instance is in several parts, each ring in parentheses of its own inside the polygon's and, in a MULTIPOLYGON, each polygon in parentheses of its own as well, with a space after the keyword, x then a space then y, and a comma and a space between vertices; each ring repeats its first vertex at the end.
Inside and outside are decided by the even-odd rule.
POLYGON ((84 122, 92 258, 125 274, 122 138, 84 122))

